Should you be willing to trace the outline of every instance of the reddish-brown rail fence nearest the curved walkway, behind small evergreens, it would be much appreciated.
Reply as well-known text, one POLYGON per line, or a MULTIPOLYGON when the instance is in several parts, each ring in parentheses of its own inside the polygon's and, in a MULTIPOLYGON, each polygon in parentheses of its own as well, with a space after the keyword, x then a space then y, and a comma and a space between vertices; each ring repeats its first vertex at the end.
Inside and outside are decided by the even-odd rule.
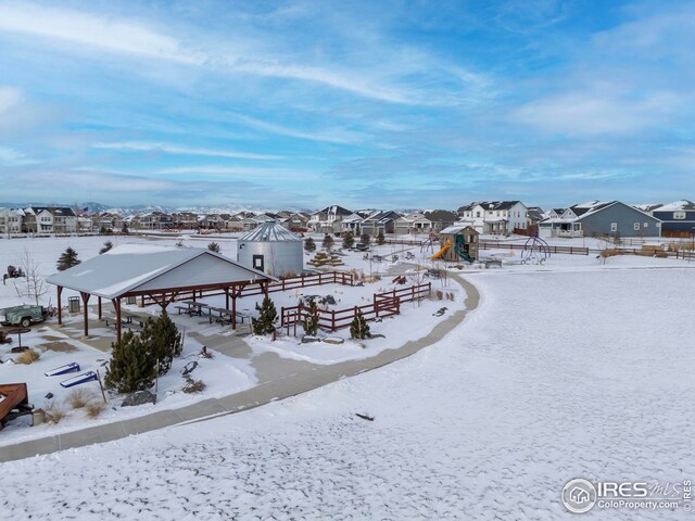
MULTIPOLYGON (((366 320, 379 317, 390 317, 401 313, 401 304, 419 301, 432 293, 432 283, 410 285, 408 288, 394 289, 384 293, 375 293, 371 304, 364 306, 346 307, 344 309, 317 309, 318 326, 330 331, 348 328, 362 312, 366 320)), ((287 334, 295 334, 298 326, 301 327, 308 316, 306 306, 289 306, 280 309, 280 327, 287 329, 287 334)))

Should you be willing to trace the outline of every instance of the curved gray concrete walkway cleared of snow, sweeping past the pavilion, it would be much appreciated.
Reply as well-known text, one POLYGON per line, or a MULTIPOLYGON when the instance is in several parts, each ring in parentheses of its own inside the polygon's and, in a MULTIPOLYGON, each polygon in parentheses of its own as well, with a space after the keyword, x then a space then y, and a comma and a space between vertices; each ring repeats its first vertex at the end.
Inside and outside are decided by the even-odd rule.
MULTIPOLYGON (((353 377, 410 356, 421 348, 439 342, 452 329, 463 322, 468 312, 478 307, 480 294, 476 287, 457 275, 450 274, 450 277, 466 290, 465 309, 459 309, 439 322, 427 336, 407 342, 396 350, 386 350, 371 358, 343 361, 330 366, 318 366, 287 358, 281 359, 280 364, 278 363, 280 357, 277 354, 264 353, 254 358, 258 384, 252 389, 222 398, 203 399, 186 407, 161 410, 138 418, 30 440, 15 445, 0 446, 0 462, 55 453, 66 448, 81 447, 93 443, 110 442, 178 423, 210 420, 219 416, 252 409, 271 401, 305 393, 342 378, 353 377)), ((219 346, 215 348, 223 353, 227 351, 219 346)), ((235 342, 230 346, 232 351, 243 348, 249 348, 243 342, 235 342)), ((240 355, 238 352, 228 354, 232 356, 240 355)))

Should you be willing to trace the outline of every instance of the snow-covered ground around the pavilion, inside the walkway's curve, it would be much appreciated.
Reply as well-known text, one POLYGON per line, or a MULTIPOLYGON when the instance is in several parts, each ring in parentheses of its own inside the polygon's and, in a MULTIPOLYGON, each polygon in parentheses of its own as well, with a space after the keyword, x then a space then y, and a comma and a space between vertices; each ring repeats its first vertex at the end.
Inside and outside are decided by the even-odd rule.
MULTIPOLYGON (((78 252, 80 259, 86 260, 98 255, 105 240, 112 241, 114 246, 123 246, 129 243, 175 245, 180 242, 184 246, 204 247, 211 242, 210 237, 186 234, 182 236, 182 238, 168 237, 166 239, 140 237, 76 237, 0 240, 0 266, 7 266, 8 264, 20 265, 25 252, 28 252, 30 258, 36 262, 38 272, 46 277, 55 271, 55 260, 68 245, 78 252)), ((215 238, 215 241, 222 245, 223 254, 235 258, 235 239, 223 240, 215 238)), ((386 254, 389 247, 383 246, 378 250, 386 254)), ((362 253, 348 253, 343 258, 346 266, 343 266, 342 269, 354 267, 364 270, 367 276, 369 276, 369 274, 374 276, 386 274, 394 268, 396 268, 397 271, 407 271, 406 267, 397 269, 397 266, 387 262, 372 263, 374 266, 370 270, 369 262, 363 258, 362 253)), ((24 281, 25 279, 15 279, 8 281, 7 285, 0 285, 0 307, 31 302, 30 298, 17 294, 15 289, 15 283, 21 289, 24 281)), ((424 281, 422 277, 416 277, 414 272, 408 275, 408 284, 424 281)), ((393 277, 383 277, 374 282, 365 282, 362 287, 327 284, 273 293, 271 298, 279 312, 282 306, 296 305, 300 297, 305 297, 306 295, 318 295, 319 297, 331 295, 336 300, 336 304, 321 307, 343 309, 355 305, 368 304, 371 302, 374 293, 391 291, 394 288, 400 289, 403 288, 403 285, 394 284, 393 277)), ((116 395, 115 393, 108 393, 108 406, 98 419, 87 418, 81 409, 73 410, 67 403, 67 397, 72 390, 63 389, 60 382, 74 377, 76 373, 48 378, 45 376, 45 372, 68 363, 77 363, 80 365, 79 373, 99 370, 103 377, 105 373, 104 365, 110 359, 109 348, 115 336, 113 328, 114 312, 111 305, 104 304, 104 317, 111 321, 111 327, 108 327, 106 321, 97 321, 96 306, 90 308, 89 316, 92 322, 90 327, 90 340, 81 340, 81 314, 65 314, 64 328, 49 327, 55 322, 55 319, 52 319, 43 325, 34 326, 30 333, 23 335, 22 343, 24 345, 28 345, 41 353, 40 359, 31 365, 13 364, 18 355, 11 354, 10 350, 16 345, 16 336, 13 338, 13 344, 0 345, 0 360, 4 361, 4 364, 0 364, 0 382, 26 382, 28 385, 29 402, 31 404, 36 407, 46 407, 49 404, 54 404, 64 410, 67 416, 59 424, 46 423, 31 429, 29 428, 29 417, 10 422, 0 435, 0 447, 31 439, 74 431, 85 427, 93 427, 104 422, 143 416, 162 409, 181 407, 197 401, 226 396, 244 391, 258 383, 254 358, 267 352, 275 353, 282 359, 327 365, 351 359, 368 358, 383 350, 400 347, 407 340, 415 340, 426 335, 439 321, 445 319, 456 309, 464 306, 464 292, 457 284, 435 281, 433 288, 434 291, 442 291, 444 295, 450 294, 453 301, 440 301, 434 297, 431 301, 422 301, 417 304, 404 303, 401 308, 402 313, 397 318, 384 318, 383 321, 371 325, 372 333, 384 335, 386 338, 374 339, 368 342, 349 340, 350 334, 345 329, 339 330, 336 333, 321 332, 320 336, 332 335, 345 339, 345 343, 341 345, 329 345, 327 343, 301 344, 302 328, 300 327, 298 328, 300 338, 281 336, 277 342, 269 342, 267 338, 247 338, 247 342, 251 346, 249 351, 243 348, 244 341, 237 338, 229 326, 223 328, 218 323, 211 323, 207 317, 178 315, 175 308, 170 308, 169 313, 172 314, 172 318, 177 323, 179 330, 186 333, 185 352, 181 358, 175 360, 172 370, 160 379, 156 405, 122 408, 121 403, 123 402, 123 396, 116 395), (432 315, 442 307, 447 308, 446 313, 441 317, 433 317, 432 315), (199 356, 203 345, 210 347, 214 359, 204 359, 199 356), (181 392, 185 383, 185 380, 181 378, 181 370, 186 364, 192 361, 198 361, 199 366, 191 376, 195 380, 202 380, 206 385, 203 392, 194 395, 184 394, 181 392), (49 393, 53 395, 52 398, 46 398, 49 393)), ((66 297, 72 295, 72 292, 65 291, 63 294, 63 302, 65 302, 66 297)), ((41 303, 43 305, 48 305, 51 302, 54 303, 53 295, 54 289, 50 287, 50 290, 41 296, 41 303)), ((248 316, 255 316, 255 305, 261 300, 261 295, 241 298, 238 302, 238 310, 248 316)), ((223 295, 208 297, 203 302, 215 307, 225 306, 225 297, 223 295)), ((124 306, 124 313, 126 315, 136 314, 138 317, 137 320, 141 320, 147 316, 159 315, 160 308, 159 306, 139 308, 138 306, 131 305, 124 306)), ((247 330, 248 328, 248 323, 240 326, 240 330, 247 330)), ((80 389, 87 390, 93 396, 94 401, 101 401, 100 387, 97 382, 84 384, 80 389)))

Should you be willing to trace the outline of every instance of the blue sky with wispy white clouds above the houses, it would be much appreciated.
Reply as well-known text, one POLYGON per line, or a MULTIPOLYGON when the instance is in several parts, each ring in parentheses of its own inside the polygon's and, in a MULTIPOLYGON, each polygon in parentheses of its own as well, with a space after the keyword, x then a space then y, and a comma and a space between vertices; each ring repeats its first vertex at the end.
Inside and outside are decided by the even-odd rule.
POLYGON ((695 198, 695 3, 0 0, 0 201, 695 198))

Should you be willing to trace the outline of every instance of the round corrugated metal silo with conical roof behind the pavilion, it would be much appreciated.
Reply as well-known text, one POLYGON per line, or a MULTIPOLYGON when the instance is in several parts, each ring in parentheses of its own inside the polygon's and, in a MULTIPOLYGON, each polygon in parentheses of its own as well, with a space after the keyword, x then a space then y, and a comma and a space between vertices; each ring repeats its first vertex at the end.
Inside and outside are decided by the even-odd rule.
POLYGON ((237 260, 275 277, 299 275, 304 269, 302 239, 269 220, 237 241, 237 260))

